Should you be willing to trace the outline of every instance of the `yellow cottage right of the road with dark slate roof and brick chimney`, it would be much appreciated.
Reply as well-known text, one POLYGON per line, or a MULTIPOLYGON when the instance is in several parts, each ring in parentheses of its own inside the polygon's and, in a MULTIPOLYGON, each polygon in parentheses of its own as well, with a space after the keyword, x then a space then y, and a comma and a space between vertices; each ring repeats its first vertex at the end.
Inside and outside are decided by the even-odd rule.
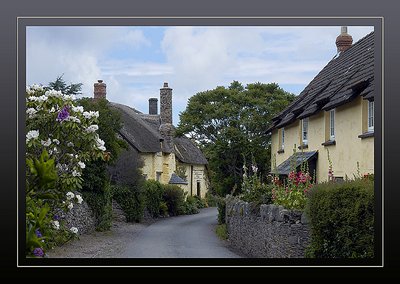
POLYGON ((295 148, 317 182, 328 180, 328 152, 336 180, 374 173, 374 33, 352 42, 342 27, 337 55, 273 118, 272 172, 289 173, 295 148))

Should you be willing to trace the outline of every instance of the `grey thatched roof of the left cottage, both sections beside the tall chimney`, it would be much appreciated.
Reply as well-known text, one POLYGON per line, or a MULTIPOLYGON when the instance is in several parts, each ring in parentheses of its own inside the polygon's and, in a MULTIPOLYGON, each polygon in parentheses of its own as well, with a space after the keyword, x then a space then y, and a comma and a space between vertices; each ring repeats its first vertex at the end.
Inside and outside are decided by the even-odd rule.
MULTIPOLYGON (((123 127, 121 136, 141 153, 169 152, 161 146, 163 137, 160 135, 160 115, 143 114, 126 105, 109 103, 121 114, 123 127)), ((174 137, 174 152, 182 163, 207 164, 207 159, 200 149, 186 137, 174 137)))

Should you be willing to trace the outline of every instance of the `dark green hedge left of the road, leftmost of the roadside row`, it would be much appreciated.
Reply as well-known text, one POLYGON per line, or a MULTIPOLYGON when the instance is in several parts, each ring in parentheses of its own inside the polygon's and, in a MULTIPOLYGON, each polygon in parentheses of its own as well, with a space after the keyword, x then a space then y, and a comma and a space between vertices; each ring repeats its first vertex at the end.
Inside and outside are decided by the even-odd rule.
POLYGON ((126 221, 140 222, 144 215, 144 194, 141 188, 114 186, 113 197, 125 213, 126 221))

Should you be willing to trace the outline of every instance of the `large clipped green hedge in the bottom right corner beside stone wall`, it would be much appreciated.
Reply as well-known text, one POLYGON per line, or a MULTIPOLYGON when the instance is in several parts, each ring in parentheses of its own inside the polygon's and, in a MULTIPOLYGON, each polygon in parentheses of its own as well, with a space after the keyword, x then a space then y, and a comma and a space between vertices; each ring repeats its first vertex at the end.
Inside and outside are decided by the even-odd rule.
POLYGON ((374 256, 373 181, 318 184, 310 193, 306 214, 311 225, 307 257, 374 256))

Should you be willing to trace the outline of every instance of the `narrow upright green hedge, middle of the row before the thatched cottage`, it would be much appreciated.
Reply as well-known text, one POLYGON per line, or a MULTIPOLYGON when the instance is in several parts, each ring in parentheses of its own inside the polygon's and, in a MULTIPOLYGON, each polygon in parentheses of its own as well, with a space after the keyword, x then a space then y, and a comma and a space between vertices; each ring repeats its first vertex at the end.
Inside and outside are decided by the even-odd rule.
MULTIPOLYGON (((147 180, 144 183, 145 205, 152 217, 158 217, 160 215, 163 191, 163 186, 158 181, 147 180)), ((161 212, 161 215, 163 214, 164 212, 161 212)))

